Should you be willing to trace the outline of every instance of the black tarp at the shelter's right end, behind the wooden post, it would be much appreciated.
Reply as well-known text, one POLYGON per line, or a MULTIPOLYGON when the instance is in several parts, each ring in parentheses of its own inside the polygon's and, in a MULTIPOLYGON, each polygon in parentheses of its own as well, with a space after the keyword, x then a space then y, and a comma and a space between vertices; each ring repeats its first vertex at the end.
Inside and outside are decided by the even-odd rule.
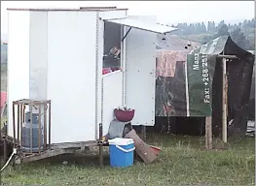
MULTIPOLYGON (((232 39, 227 39, 224 53, 227 55, 237 55, 238 59, 233 59, 227 63, 228 73, 228 122, 233 120, 229 126, 229 133, 245 134, 247 128, 247 118, 249 113, 249 98, 252 81, 252 72, 255 56, 250 52, 238 47, 232 39)), ((218 59, 215 66, 213 79, 213 103, 212 122, 213 133, 220 134, 222 129, 222 63, 218 59)))

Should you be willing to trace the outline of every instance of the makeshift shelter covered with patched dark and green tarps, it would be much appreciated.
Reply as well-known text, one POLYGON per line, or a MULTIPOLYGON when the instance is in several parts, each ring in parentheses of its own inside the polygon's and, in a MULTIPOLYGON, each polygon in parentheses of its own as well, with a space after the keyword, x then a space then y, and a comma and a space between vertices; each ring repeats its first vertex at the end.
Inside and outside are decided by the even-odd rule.
POLYGON ((223 53, 238 57, 227 62, 227 123, 233 120, 230 128, 245 134, 255 56, 238 47, 228 36, 216 38, 193 51, 158 50, 156 116, 212 115, 213 134, 219 135, 222 59, 217 55, 223 53))

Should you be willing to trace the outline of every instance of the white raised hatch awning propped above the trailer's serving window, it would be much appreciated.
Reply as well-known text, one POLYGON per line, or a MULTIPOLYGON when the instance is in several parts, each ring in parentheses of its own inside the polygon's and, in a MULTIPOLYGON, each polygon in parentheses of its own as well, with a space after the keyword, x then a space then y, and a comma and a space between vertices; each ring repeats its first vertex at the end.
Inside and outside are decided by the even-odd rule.
POLYGON ((171 31, 177 29, 177 28, 173 28, 170 26, 165 26, 162 24, 157 24, 154 22, 143 21, 141 19, 135 19, 135 18, 129 18, 129 17, 106 19, 105 21, 121 24, 124 26, 129 26, 132 28, 137 28, 140 30, 146 30, 149 32, 155 32, 155 33, 159 33, 159 34, 165 34, 167 32, 171 32, 171 31))

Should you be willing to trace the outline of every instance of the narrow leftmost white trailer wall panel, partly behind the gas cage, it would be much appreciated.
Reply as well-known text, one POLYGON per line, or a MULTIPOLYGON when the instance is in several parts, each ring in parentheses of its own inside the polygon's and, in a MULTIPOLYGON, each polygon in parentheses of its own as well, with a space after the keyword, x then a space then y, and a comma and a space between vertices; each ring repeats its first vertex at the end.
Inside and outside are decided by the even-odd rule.
MULTIPOLYGON (((14 137, 13 102, 29 98, 30 13, 8 12, 8 135, 14 137)), ((17 109, 16 109, 17 121, 17 109)), ((16 130, 16 138, 17 138, 16 130)))

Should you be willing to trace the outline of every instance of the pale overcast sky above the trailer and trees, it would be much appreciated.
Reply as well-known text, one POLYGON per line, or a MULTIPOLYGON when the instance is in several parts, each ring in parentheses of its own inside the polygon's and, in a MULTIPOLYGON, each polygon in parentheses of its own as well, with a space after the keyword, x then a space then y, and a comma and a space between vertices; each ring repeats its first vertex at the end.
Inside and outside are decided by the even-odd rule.
POLYGON ((1 33, 7 33, 7 8, 117 6, 128 15, 158 16, 163 23, 251 19, 254 1, 1 1, 1 33))

